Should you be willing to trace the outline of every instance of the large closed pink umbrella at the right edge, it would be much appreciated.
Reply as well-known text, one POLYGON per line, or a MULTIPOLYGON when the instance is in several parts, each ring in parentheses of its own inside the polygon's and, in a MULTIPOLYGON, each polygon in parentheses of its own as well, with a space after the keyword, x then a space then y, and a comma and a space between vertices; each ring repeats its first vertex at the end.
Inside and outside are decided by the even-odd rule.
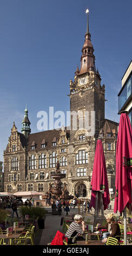
POLYGON ((131 209, 132 129, 127 113, 122 113, 116 146, 116 180, 114 212, 131 209))

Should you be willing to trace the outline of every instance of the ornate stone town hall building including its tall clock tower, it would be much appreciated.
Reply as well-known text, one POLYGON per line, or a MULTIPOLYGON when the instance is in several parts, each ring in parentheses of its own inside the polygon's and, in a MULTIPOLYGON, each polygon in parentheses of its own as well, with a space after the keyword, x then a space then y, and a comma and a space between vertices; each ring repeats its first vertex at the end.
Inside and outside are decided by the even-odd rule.
POLYGON ((70 194, 90 198, 90 181, 97 138, 102 138, 109 188, 114 188, 117 123, 104 118, 105 86, 95 68, 94 48, 90 33, 85 34, 81 69, 70 80, 70 129, 30 133, 28 110, 25 109, 22 133, 15 123, 4 151, 4 191, 49 191, 54 182, 57 160, 66 173, 62 180, 70 194), (76 115, 74 122, 73 114, 76 115), (91 115, 94 113, 94 119, 91 115), (85 115, 88 114, 87 127, 85 115), (91 124, 94 120, 94 133, 91 124), (75 127, 76 126, 76 127, 75 127))

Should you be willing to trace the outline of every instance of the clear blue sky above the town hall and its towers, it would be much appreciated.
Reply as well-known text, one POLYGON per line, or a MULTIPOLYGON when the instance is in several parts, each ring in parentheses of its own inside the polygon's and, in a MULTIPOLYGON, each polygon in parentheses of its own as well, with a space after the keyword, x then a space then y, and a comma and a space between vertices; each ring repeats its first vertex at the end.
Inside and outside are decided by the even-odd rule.
POLYGON ((13 122, 21 132, 27 102, 31 132, 38 111, 69 111, 69 81, 89 30, 105 84, 105 118, 119 121, 121 79, 131 61, 131 0, 0 0, 0 160, 13 122))

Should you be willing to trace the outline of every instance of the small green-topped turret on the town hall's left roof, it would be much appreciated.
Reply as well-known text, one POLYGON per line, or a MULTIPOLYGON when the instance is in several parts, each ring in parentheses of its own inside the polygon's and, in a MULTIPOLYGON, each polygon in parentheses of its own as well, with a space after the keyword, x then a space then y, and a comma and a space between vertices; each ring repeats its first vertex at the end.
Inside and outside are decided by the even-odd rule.
POLYGON ((30 135, 30 132, 31 132, 31 129, 30 129, 30 121, 29 121, 29 118, 28 118, 28 109, 27 109, 27 105, 26 105, 26 108, 25 108, 25 115, 24 115, 24 119, 22 121, 22 133, 23 135, 28 138, 28 136, 30 135))

